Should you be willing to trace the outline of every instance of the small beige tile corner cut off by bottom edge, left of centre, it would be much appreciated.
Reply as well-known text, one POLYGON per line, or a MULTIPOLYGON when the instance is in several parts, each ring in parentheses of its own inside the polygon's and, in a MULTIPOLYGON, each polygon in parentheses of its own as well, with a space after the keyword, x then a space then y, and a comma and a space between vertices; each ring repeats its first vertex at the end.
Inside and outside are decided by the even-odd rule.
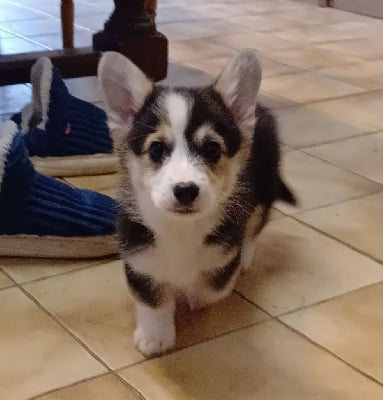
POLYGON ((36 400, 140 400, 141 397, 133 389, 121 383, 112 375, 81 382, 76 385, 57 390, 36 400))

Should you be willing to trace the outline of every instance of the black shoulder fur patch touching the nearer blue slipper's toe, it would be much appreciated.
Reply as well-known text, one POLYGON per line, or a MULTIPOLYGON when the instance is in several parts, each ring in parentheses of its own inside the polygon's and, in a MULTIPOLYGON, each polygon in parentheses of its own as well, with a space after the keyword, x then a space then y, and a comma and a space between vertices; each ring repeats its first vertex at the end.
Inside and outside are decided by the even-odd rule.
POLYGON ((117 219, 117 232, 120 248, 126 253, 134 253, 153 246, 153 232, 145 225, 130 218, 126 212, 120 212, 117 219))

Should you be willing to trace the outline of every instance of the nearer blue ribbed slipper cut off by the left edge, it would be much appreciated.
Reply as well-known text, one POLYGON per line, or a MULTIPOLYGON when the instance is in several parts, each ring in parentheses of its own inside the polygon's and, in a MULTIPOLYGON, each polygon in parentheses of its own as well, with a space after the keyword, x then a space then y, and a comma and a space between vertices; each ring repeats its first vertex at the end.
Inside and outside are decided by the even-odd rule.
POLYGON ((115 254, 116 210, 108 196, 37 172, 17 125, 0 125, 0 256, 115 254))

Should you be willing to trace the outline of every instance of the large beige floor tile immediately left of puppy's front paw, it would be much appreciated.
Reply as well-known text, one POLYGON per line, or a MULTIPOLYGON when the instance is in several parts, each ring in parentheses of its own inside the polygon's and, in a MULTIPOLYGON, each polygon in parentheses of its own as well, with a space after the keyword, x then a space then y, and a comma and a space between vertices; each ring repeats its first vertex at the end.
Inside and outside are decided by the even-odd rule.
POLYGON ((132 342, 134 305, 120 261, 25 287, 110 367, 143 359, 132 342))

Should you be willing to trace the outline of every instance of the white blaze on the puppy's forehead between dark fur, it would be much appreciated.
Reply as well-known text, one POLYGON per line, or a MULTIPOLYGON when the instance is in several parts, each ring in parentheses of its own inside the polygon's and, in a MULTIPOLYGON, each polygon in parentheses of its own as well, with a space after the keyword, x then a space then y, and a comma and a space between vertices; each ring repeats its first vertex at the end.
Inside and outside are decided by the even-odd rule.
POLYGON ((190 118, 191 99, 180 93, 170 92, 165 95, 164 106, 173 135, 183 135, 190 118))

